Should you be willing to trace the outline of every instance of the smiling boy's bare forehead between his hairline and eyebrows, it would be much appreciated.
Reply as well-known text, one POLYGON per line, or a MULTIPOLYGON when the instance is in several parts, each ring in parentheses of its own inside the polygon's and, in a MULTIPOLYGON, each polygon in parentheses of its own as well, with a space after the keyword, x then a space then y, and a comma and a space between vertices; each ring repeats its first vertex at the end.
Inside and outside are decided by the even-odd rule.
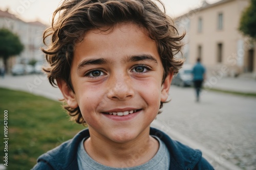
POLYGON ((131 23, 104 31, 99 29, 88 31, 84 34, 83 40, 77 43, 74 57, 79 57, 78 60, 81 61, 86 56, 100 58, 116 55, 116 53, 124 56, 125 61, 129 61, 127 58, 136 55, 151 56, 148 59, 152 57, 160 59, 156 42, 148 37, 144 29, 131 23))

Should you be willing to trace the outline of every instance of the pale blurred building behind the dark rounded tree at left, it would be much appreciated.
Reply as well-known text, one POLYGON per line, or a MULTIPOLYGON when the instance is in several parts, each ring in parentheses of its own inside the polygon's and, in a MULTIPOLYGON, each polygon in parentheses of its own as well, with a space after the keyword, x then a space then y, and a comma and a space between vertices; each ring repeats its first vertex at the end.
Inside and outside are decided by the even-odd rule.
MULTIPOLYGON (((20 55, 9 59, 9 67, 17 63, 27 64, 31 60, 44 60, 45 57, 40 47, 44 45, 42 43, 42 34, 46 27, 39 21, 25 22, 9 13, 8 9, 6 11, 0 10, 0 28, 9 29, 17 34, 25 47, 20 55)), ((3 65, 2 58, 0 58, 0 65, 3 65)))

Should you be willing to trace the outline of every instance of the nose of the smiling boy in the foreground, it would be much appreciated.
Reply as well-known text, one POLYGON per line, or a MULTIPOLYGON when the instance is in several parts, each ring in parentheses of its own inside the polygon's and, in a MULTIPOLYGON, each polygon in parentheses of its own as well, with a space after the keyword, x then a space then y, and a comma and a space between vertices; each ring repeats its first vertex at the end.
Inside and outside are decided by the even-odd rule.
POLYGON ((129 76, 116 76, 109 82, 108 98, 114 100, 127 100, 132 98, 134 90, 129 76))

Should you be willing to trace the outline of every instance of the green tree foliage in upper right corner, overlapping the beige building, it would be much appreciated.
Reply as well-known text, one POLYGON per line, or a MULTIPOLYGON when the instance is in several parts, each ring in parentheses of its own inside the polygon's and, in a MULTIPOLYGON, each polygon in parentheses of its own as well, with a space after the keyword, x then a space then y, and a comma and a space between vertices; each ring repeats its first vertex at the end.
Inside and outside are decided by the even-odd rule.
POLYGON ((248 8, 242 13, 239 30, 256 40, 256 0, 251 0, 248 8))

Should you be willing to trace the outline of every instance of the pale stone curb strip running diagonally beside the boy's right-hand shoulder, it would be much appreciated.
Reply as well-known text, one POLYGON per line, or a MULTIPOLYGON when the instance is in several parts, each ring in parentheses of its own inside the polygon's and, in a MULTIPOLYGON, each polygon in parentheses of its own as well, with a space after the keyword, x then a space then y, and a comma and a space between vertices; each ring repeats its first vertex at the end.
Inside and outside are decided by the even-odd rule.
POLYGON ((221 155, 218 155, 212 152, 211 150, 206 149, 205 147, 202 146, 202 144, 191 140, 190 138, 182 135, 181 133, 177 132, 174 129, 170 129, 169 127, 164 126, 164 124, 161 123, 159 120, 154 120, 151 126, 163 131, 164 133, 171 136, 175 140, 178 140, 183 144, 188 145, 190 148, 201 150, 204 158, 206 158, 209 161, 209 163, 212 166, 214 166, 216 170, 242 170, 242 168, 224 159, 221 155))

